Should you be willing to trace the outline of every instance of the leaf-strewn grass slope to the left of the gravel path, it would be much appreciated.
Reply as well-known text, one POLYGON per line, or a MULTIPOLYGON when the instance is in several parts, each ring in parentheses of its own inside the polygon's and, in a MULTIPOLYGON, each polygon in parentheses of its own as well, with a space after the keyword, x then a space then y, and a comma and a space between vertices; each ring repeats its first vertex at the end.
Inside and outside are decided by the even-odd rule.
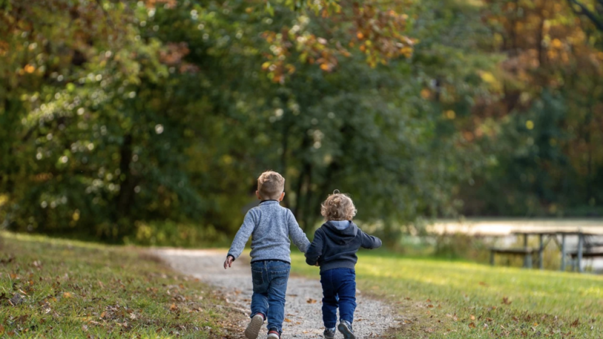
POLYGON ((127 247, 0 233, 0 337, 224 338, 237 315, 127 247))

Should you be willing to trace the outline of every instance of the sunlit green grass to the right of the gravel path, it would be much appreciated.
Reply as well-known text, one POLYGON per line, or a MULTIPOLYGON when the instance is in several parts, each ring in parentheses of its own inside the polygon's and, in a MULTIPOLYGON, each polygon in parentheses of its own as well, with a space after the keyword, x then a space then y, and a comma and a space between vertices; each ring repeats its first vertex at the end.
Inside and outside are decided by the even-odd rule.
MULTIPOLYGON (((359 253, 358 288, 393 303, 397 338, 602 338, 603 276, 359 253)), ((293 271, 318 277, 294 253, 293 271)), ((361 315, 358 315, 361 317, 361 315)), ((359 322, 356 326, 362 326, 359 322)))

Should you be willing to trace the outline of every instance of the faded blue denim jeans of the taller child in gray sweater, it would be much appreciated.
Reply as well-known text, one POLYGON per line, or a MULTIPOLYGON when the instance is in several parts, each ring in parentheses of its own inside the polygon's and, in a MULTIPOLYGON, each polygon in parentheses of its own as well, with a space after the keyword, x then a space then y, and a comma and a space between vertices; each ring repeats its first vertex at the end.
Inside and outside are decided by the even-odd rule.
POLYGON ((282 333, 285 319, 285 293, 291 265, 282 261, 256 261, 251 263, 251 317, 258 313, 268 318, 268 331, 282 333))

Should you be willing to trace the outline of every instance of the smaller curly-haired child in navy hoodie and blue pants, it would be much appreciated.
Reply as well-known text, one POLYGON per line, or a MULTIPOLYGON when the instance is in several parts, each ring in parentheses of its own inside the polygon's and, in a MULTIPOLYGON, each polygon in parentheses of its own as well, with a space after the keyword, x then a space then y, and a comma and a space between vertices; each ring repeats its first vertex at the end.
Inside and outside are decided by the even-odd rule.
POLYGON ((320 265, 323 285, 324 338, 335 338, 337 329, 344 339, 356 339, 352 329, 356 310, 356 252, 363 247, 376 249, 381 240, 362 232, 353 223, 356 207, 352 199, 335 190, 321 205, 325 223, 314 233, 314 241, 306 252, 308 265, 320 265))

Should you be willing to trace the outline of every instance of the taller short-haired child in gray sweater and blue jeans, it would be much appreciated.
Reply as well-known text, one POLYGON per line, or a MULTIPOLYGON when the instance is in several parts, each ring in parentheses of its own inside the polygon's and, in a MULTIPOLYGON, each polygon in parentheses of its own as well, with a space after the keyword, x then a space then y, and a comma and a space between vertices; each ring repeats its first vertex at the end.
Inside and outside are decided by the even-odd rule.
POLYGON ((256 339, 265 320, 268 320, 268 339, 279 339, 285 318, 285 293, 291 270, 291 242, 301 252, 310 246, 289 209, 280 206, 285 197, 285 178, 267 171, 257 178, 256 195, 259 206, 245 215, 236 233, 224 268, 241 255, 251 236, 251 322, 245 329, 247 339, 256 339))

